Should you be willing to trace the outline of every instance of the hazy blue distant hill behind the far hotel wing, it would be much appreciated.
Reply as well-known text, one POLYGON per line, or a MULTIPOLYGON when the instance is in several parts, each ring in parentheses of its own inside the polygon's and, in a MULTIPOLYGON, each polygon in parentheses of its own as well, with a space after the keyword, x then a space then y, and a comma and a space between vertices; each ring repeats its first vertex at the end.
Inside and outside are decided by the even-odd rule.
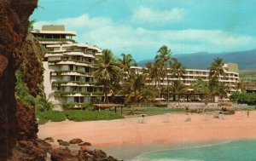
MULTIPOLYGON (((240 70, 255 69, 256 72, 256 49, 229 53, 193 53, 172 55, 183 63, 183 66, 190 69, 207 69, 217 57, 222 58, 224 63, 237 63, 240 70)), ((145 66, 145 63, 153 60, 142 60, 138 66, 145 66)))

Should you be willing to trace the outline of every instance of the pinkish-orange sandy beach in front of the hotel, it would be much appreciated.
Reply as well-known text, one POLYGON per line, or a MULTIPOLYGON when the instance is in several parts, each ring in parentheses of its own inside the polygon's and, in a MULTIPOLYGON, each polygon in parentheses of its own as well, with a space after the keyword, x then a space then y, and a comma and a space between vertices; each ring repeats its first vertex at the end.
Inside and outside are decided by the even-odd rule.
POLYGON ((164 114, 112 121, 47 123, 39 125, 38 137, 70 141, 80 138, 92 148, 102 148, 116 158, 133 158, 142 152, 163 150, 195 142, 256 138, 256 112, 213 118, 212 114, 164 114), (191 118, 191 121, 186 121, 191 118))

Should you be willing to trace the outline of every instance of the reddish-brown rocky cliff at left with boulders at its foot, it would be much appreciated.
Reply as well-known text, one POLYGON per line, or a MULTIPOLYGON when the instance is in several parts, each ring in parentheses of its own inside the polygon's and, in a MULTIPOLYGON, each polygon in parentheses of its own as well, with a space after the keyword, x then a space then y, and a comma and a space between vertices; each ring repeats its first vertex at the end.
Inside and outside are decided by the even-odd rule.
POLYGON ((38 139, 34 108, 26 106, 19 96, 15 99, 17 69, 29 95, 35 97, 42 89, 39 86, 43 82, 44 56, 39 43, 28 34, 28 18, 37 3, 38 0, 0 0, 0 161, 116 161, 101 150, 91 151, 84 146, 79 151, 68 147, 53 149, 38 139))

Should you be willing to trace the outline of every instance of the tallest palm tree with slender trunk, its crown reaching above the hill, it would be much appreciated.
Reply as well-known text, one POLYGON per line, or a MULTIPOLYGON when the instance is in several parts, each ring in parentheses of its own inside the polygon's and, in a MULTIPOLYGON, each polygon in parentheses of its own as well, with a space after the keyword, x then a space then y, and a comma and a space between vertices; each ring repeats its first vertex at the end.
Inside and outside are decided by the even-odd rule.
POLYGON ((162 78, 162 81, 164 83, 165 78, 167 77, 167 103, 169 105, 169 77, 168 77, 168 61, 171 60, 171 49, 168 49, 166 45, 160 47, 160 49, 157 51, 159 53, 155 56, 155 63, 159 66, 160 75, 162 78))

